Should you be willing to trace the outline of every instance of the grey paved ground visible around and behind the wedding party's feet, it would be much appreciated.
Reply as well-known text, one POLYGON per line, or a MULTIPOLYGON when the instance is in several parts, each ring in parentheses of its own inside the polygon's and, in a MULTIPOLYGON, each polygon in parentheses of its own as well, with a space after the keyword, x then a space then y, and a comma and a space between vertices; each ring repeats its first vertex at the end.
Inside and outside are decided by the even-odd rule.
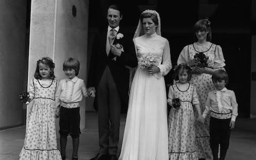
MULTIPOLYGON (((125 116, 121 120, 121 132, 118 154, 123 139, 125 116)), ((256 159, 256 120, 237 119, 236 128, 231 132, 230 147, 227 160, 255 160, 256 159), (246 128, 246 129, 245 129, 246 128)), ((15 127, 0 131, 0 160, 19 159, 23 146, 26 127, 15 127)), ((59 141, 58 141, 59 145, 59 141)), ((59 146, 58 146, 59 148, 59 146)), ((98 117, 97 113, 86 113, 86 129, 82 130, 79 146, 79 159, 90 159, 98 151, 98 117)), ((68 138, 67 159, 71 158, 72 141, 68 138)), ((143 160, 143 159, 141 159, 143 160)), ((159 159, 161 160, 161 159, 159 159)))

